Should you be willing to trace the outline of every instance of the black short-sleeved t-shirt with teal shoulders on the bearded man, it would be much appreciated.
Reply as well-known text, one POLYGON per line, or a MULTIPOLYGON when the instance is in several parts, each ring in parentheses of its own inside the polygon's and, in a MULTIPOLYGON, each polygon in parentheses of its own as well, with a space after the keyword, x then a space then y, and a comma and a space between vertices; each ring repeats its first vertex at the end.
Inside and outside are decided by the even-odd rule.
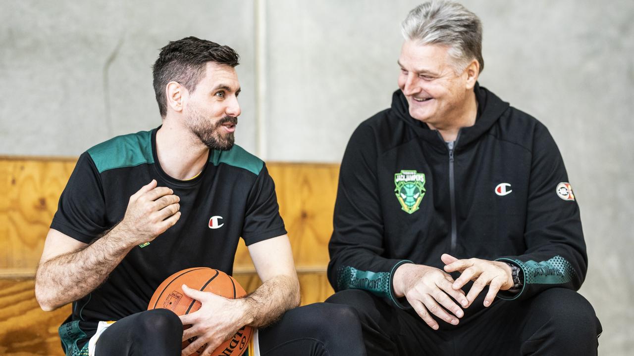
POLYGON ((286 233, 275 184, 264 162, 240 146, 210 151, 200 175, 165 174, 156 132, 115 137, 83 153, 60 197, 51 228, 90 243, 123 219, 129 198, 156 179, 180 197, 181 218, 150 244, 134 246, 105 283, 73 303, 68 321, 86 338, 98 321, 146 310, 155 289, 174 272, 211 267, 231 274, 240 236, 246 245, 286 233), (142 246, 142 247, 141 247, 142 246))

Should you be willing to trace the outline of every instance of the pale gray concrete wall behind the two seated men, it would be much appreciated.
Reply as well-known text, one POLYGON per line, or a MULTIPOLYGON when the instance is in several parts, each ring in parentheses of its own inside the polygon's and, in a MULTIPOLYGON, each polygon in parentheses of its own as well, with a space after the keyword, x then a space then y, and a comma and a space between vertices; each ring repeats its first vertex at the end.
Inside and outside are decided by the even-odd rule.
MULTIPOLYGON (((634 340, 634 2, 463 1, 484 23, 481 84, 544 122, 581 205, 581 293, 600 352, 634 340)), ((237 141, 266 160, 339 162, 396 89, 399 23, 415 1, 3 1, 0 154, 79 155, 160 124, 150 65, 196 35, 242 55, 237 141)))

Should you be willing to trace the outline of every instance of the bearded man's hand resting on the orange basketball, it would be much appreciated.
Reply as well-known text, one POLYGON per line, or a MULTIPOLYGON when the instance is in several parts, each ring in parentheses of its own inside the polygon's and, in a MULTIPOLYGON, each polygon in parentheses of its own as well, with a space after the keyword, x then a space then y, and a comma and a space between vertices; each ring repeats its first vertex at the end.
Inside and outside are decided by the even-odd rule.
POLYGON ((198 336, 183 349, 181 355, 188 356, 207 344, 201 356, 211 355, 218 346, 247 324, 247 303, 243 299, 228 299, 214 293, 198 291, 183 284, 186 296, 202 303, 200 309, 191 314, 181 315, 183 325, 191 325, 183 331, 183 341, 198 336))

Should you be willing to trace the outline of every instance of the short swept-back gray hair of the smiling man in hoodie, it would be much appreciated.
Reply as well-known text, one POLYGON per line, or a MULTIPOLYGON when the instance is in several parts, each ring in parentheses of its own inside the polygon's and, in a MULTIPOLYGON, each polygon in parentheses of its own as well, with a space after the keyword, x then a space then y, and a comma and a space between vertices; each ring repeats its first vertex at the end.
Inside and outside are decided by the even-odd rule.
POLYGON ((406 40, 448 46, 456 73, 474 59, 480 63, 480 72, 484 69, 482 23, 461 4, 451 1, 420 4, 401 23, 401 31, 406 40))

